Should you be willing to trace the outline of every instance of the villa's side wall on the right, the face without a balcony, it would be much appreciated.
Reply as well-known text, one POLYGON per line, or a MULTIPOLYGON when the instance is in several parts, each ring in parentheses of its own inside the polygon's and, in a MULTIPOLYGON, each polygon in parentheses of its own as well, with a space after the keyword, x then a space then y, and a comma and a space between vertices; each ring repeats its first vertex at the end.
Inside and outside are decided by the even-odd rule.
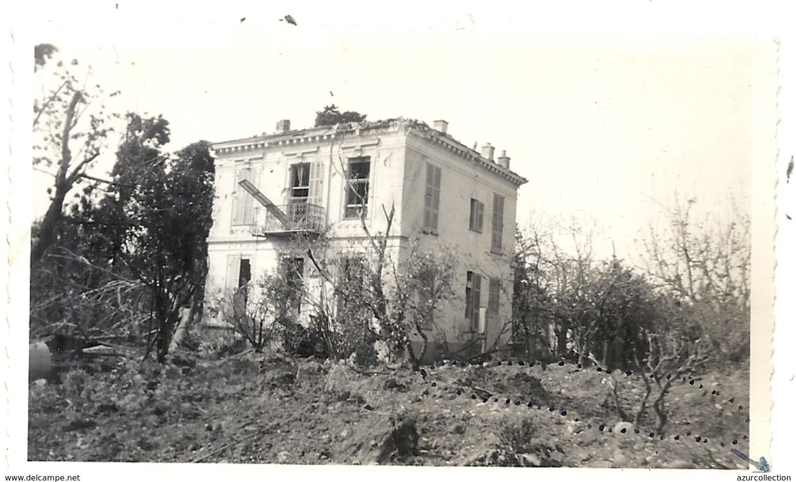
MULTIPOLYGON (((458 255, 454 291, 458 297, 443 305, 435 319, 438 328, 447 336, 449 344, 466 343, 473 333, 465 317, 466 273, 481 274, 482 293, 480 307, 488 301, 488 278, 501 280, 499 316, 491 317, 487 324, 486 345, 492 346, 499 333, 505 344, 510 332, 505 326, 511 318, 512 272, 511 256, 516 231, 517 189, 509 181, 480 168, 474 161, 466 160, 447 149, 430 144, 421 138, 409 136, 404 174, 405 236, 419 237, 420 246, 428 249, 451 249, 458 255), (438 166, 442 172, 440 182, 438 234, 423 232, 423 192, 426 185, 426 165, 438 166), (491 252, 491 222, 494 193, 505 198, 502 254, 491 252), (470 231, 470 200, 484 204, 482 232, 470 231)), ((429 336, 438 332, 429 331, 429 336)))

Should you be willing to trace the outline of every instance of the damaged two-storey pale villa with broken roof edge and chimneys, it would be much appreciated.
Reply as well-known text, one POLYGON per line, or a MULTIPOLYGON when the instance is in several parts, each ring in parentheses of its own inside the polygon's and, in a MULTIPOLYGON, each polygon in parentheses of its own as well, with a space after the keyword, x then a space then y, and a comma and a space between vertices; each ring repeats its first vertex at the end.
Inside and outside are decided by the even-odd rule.
MULTIPOLYGON (((334 297, 308 243, 324 239, 326 257, 355 259, 381 235, 398 270, 416 247, 456 254, 453 296, 423 325, 427 356, 440 347, 471 356, 505 346, 517 189, 526 180, 509 169, 505 151, 470 149, 447 126, 390 119, 291 130, 283 120, 274 134, 214 144, 207 304, 236 293, 233 304, 252 303, 241 293, 279 270, 308 293, 334 297)), ((316 316, 304 303, 295 311, 303 325, 316 316)), ((228 328, 228 312, 205 310, 203 325, 228 328)))

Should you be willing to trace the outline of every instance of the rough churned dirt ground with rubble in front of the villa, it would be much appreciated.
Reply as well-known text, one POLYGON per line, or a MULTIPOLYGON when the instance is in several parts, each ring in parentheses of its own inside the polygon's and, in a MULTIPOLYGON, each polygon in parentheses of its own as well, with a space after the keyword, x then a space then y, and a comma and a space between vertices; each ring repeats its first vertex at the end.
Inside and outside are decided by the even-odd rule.
POLYGON ((677 380, 669 422, 619 418, 639 375, 513 362, 357 369, 243 352, 96 363, 31 383, 31 461, 747 468, 748 371, 677 380), (693 380, 693 383, 691 381, 693 380), (653 428, 651 428, 653 427, 653 428))

